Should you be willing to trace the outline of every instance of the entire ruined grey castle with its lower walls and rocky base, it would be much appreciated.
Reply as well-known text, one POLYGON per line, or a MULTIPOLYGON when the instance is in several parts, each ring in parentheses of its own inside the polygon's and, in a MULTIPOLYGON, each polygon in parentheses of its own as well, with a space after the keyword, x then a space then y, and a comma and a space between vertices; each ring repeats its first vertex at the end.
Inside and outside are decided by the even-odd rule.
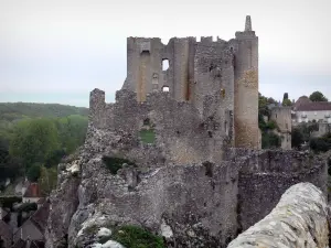
POLYGON ((116 103, 106 104, 100 89, 89 100, 84 147, 60 166, 50 197, 47 248, 63 240, 92 247, 98 228, 128 224, 161 235, 169 248, 226 247, 291 185, 310 182, 327 193, 320 158, 256 151, 258 39, 249 17, 228 42, 129 37, 128 75, 116 103))

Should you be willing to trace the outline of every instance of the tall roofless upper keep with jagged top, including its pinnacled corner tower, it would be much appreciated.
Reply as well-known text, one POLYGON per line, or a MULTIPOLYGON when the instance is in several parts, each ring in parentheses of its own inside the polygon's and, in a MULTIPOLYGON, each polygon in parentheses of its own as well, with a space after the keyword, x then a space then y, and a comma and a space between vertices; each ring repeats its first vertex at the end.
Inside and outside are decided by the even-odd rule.
POLYGON ((159 37, 128 37, 122 89, 136 93, 141 103, 149 93, 164 88, 177 101, 191 103, 205 118, 214 112, 224 133, 233 122, 232 145, 259 148, 258 37, 249 15, 245 31, 236 32, 229 41, 172 37, 162 44, 159 37), (168 68, 162 66, 164 62, 168 68), (217 100, 206 110, 211 98, 217 100))

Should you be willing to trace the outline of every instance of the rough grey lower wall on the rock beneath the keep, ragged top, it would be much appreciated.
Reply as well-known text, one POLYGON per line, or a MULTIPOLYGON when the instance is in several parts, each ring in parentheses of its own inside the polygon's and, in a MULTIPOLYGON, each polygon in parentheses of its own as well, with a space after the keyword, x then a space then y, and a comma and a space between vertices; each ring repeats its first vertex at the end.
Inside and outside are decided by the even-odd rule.
POLYGON ((100 213, 108 223, 142 225, 173 247, 217 247, 237 235, 238 169, 234 164, 163 166, 140 174, 140 183, 132 188, 121 176, 104 171, 99 160, 90 162, 79 188, 71 247, 84 234, 82 224, 100 213), (164 226, 171 231, 164 233, 164 226))

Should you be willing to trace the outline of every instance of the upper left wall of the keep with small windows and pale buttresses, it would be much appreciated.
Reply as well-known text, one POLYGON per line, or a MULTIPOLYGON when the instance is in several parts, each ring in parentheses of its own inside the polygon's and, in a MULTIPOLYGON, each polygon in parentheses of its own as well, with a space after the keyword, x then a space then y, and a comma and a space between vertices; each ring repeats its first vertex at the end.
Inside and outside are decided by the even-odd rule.
POLYGON ((167 45, 158 37, 128 37, 127 43, 127 78, 122 89, 137 93, 138 101, 145 101, 147 94, 168 86, 174 99, 190 100, 194 37, 173 37, 167 45), (164 71, 163 61, 169 63, 164 71))

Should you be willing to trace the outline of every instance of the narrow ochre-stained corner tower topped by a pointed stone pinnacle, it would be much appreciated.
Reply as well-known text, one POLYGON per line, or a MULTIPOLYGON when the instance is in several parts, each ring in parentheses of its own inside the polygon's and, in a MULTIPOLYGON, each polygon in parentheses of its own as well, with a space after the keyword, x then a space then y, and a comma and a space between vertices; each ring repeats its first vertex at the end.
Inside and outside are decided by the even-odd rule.
POLYGON ((259 149, 258 37, 246 17, 245 31, 236 32, 235 53, 235 147, 259 149))

